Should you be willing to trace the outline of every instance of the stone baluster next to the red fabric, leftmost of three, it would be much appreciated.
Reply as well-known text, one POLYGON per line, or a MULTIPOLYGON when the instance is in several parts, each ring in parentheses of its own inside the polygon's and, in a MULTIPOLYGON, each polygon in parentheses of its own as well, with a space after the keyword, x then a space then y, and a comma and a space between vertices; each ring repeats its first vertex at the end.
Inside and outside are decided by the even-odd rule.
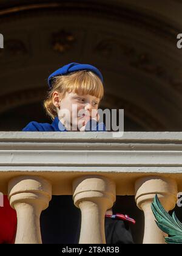
POLYGON ((8 183, 10 205, 16 210, 16 244, 41 244, 39 218, 52 197, 52 185, 42 177, 19 176, 8 183))

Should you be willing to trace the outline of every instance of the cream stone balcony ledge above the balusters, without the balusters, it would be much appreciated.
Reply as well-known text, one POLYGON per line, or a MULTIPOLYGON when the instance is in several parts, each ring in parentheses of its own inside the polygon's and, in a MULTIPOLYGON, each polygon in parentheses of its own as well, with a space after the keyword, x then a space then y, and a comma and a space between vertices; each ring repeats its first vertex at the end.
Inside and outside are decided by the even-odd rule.
POLYGON ((144 176, 175 179, 182 191, 182 132, 0 132, 0 191, 16 176, 41 176, 53 194, 72 194, 84 175, 109 177, 116 194, 135 194, 144 176))

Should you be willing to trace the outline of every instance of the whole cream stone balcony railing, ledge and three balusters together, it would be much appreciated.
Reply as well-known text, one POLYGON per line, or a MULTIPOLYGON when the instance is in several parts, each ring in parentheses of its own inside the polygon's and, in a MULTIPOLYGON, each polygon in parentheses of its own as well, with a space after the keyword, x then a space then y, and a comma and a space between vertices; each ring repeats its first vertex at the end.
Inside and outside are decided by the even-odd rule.
POLYGON ((39 216, 54 195, 81 209, 79 243, 106 243, 104 215, 116 195, 135 195, 143 243, 164 243, 150 204, 167 211, 182 191, 182 132, 0 132, 0 191, 18 216, 16 243, 41 243, 39 216))

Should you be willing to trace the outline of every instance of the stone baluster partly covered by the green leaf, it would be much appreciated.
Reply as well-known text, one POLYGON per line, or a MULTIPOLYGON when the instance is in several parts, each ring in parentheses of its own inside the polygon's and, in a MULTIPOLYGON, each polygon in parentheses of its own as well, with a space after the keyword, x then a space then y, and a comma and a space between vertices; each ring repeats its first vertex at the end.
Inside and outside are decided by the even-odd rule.
POLYGON ((177 202, 177 183, 175 180, 150 176, 136 180, 135 200, 138 208, 143 210, 145 218, 144 244, 164 244, 164 234, 155 223, 151 204, 155 194, 158 194, 161 204, 167 212, 175 207, 177 202))

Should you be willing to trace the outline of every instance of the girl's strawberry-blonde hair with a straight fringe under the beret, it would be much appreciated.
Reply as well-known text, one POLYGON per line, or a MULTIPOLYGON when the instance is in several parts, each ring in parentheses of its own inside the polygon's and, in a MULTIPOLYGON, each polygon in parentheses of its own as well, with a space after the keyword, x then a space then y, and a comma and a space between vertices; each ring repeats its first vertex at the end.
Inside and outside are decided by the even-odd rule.
POLYGON ((52 89, 47 92, 47 98, 44 100, 45 111, 52 119, 58 115, 53 104, 54 91, 61 93, 62 98, 64 98, 66 92, 81 95, 90 94, 99 98, 100 101, 104 96, 103 83, 92 71, 81 70, 64 76, 56 76, 53 78, 52 89))

